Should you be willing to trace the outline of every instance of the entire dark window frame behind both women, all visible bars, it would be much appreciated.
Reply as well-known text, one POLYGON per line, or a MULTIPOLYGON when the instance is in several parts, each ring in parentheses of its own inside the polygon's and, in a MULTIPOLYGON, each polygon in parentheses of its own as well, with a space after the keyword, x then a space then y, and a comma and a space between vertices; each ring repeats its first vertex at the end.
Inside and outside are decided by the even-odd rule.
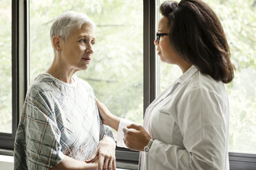
MULTIPOLYGON (((143 0, 143 111, 156 98, 157 81, 156 48, 153 44, 156 32, 156 15, 159 0, 143 0)), ((30 0, 12 0, 12 134, 0 133, 0 154, 13 155, 14 140, 28 89, 29 58, 29 5, 30 0)), ((143 114, 144 114, 143 113, 143 114)), ((228 153, 230 169, 255 169, 256 154, 228 153)), ((138 151, 117 147, 116 162, 119 167, 137 169, 138 151), (125 164, 120 164, 126 163, 125 164)))

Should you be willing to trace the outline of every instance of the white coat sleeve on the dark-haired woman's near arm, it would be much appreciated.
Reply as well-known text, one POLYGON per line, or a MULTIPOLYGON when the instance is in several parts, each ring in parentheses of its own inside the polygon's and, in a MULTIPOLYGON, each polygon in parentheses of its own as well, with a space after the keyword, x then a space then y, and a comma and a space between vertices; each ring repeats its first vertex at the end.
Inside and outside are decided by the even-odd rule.
POLYGON ((149 169, 223 169, 226 122, 220 95, 193 88, 177 103, 183 145, 155 140, 149 151, 149 169))

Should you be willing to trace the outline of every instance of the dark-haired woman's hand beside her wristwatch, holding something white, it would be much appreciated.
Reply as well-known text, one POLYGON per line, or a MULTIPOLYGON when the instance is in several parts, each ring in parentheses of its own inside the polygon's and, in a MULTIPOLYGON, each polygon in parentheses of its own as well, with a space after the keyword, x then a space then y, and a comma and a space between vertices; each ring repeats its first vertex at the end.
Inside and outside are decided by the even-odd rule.
POLYGON ((122 129, 124 132, 124 142, 130 149, 144 151, 144 147, 149 143, 151 136, 142 125, 131 124, 122 129))

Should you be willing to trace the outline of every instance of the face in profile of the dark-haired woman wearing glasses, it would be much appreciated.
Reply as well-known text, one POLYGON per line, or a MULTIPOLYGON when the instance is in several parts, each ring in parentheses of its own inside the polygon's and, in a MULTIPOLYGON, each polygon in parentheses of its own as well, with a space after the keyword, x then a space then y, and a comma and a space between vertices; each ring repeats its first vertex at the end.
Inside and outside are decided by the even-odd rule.
MULTIPOLYGON (((165 16, 161 16, 158 22, 158 33, 169 34, 168 19, 165 16)), ((162 62, 167 62, 169 64, 178 64, 180 56, 176 53, 169 41, 169 36, 161 36, 159 42, 155 40, 155 45, 157 46, 156 51, 162 62)))

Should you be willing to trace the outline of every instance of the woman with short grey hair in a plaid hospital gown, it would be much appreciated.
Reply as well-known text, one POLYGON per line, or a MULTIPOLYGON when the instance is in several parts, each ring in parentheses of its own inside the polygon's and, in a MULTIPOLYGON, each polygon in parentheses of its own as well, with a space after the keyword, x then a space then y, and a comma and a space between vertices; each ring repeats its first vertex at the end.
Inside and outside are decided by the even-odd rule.
POLYGON ((87 15, 72 11, 52 24, 54 60, 25 98, 14 169, 116 169, 116 143, 99 117, 94 90, 74 75, 92 60, 95 27, 87 15))

